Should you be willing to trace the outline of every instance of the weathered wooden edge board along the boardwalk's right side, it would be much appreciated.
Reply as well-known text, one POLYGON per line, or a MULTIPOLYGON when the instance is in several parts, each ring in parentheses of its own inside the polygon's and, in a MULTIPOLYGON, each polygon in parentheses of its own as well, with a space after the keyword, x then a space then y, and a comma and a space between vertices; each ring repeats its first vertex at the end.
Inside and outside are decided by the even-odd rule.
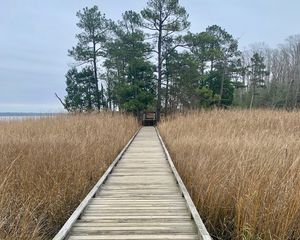
POLYGON ((188 191, 187 191, 180 175, 178 174, 178 172, 176 170, 176 167, 174 166, 173 160, 172 160, 172 158, 169 154, 169 151, 168 151, 166 145, 164 144, 164 141, 163 141, 163 139, 162 139, 162 137, 159 133, 159 130, 157 128, 155 128, 155 130, 156 130, 156 133, 158 135, 159 141, 160 141, 160 143, 161 143, 161 145, 164 149, 164 152, 165 152, 166 158, 167 158, 167 160, 170 164, 171 170, 172 170, 172 172, 173 172, 173 174, 176 178, 176 181, 179 185, 179 188, 180 188, 180 190, 183 194, 183 197, 186 200, 188 209, 189 209, 189 211, 192 215, 192 218, 195 221, 200 239, 201 240, 212 240, 211 236, 209 235, 209 233, 208 233, 208 231, 207 231, 207 229, 206 229, 206 227, 205 227, 205 225, 204 225, 204 223, 203 223, 203 221, 202 221, 202 219, 201 219, 201 217, 200 217, 200 215, 199 215, 199 213, 198 213, 198 211, 197 211, 197 209, 194 205, 194 202, 193 202, 190 194, 188 193, 188 191))

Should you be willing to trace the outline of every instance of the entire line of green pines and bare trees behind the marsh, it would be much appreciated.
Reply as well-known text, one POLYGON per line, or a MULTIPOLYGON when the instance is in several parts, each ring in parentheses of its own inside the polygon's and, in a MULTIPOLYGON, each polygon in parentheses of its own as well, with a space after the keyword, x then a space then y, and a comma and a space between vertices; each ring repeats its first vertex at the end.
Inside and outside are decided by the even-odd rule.
POLYGON ((66 74, 68 111, 100 109, 158 118, 178 110, 228 107, 298 107, 300 37, 278 49, 252 47, 220 26, 188 31, 178 0, 149 0, 140 12, 114 22, 97 6, 77 13, 76 64, 66 74))

